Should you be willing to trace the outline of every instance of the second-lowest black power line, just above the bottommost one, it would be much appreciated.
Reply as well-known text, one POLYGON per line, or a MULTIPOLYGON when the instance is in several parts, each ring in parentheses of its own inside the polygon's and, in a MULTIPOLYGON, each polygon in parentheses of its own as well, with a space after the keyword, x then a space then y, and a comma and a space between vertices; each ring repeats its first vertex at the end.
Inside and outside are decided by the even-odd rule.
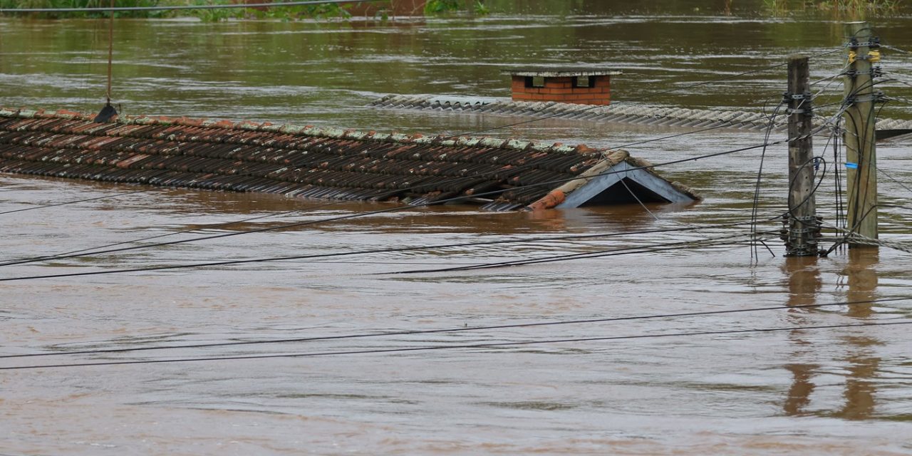
POLYGON ((682 318, 690 316, 710 316, 710 315, 725 315, 725 314, 742 314, 748 312, 760 312, 765 310, 790 310, 790 309, 810 309, 810 308, 821 308, 821 307, 831 307, 831 306, 859 306, 867 304, 882 304, 888 302, 896 301, 908 301, 912 298, 908 297, 896 297, 896 298, 885 298, 885 299, 871 299, 866 301, 846 301, 838 303, 824 303, 824 304, 804 304, 797 306, 768 306, 768 307, 752 307, 746 309, 727 309, 727 310, 710 310, 704 312, 684 312, 678 314, 660 314, 660 315, 648 315, 648 316, 614 316, 606 318, 587 318, 581 320, 565 320, 565 321, 546 321, 546 322, 537 322, 537 323, 518 323, 510 325, 493 325, 493 326, 471 326, 471 327, 452 327, 446 329, 422 329, 414 331, 396 331, 396 332, 386 332, 386 333, 373 333, 373 334, 352 334, 347 336, 324 336, 324 337, 295 337, 295 338, 285 338, 285 339, 275 339, 275 340, 249 340, 241 342, 214 342, 208 344, 189 344, 189 345, 180 345, 180 346, 163 346, 163 347, 135 347, 135 348, 109 348, 109 349, 98 349, 98 350, 78 350, 78 351, 62 351, 54 353, 30 353, 25 355, 3 355, 0 358, 38 358, 38 357, 58 357, 58 356, 75 356, 75 355, 100 355, 100 354, 109 354, 109 353, 126 353, 134 351, 150 351, 150 350, 174 350, 174 349, 186 349, 186 348, 209 348, 209 347, 236 347, 236 346, 249 346, 249 345, 264 345, 264 344, 289 344, 289 343, 298 343, 298 342, 314 342, 321 340, 340 340, 340 339, 354 339, 354 338, 365 338, 365 337, 390 337, 390 336, 414 336, 420 334, 440 334, 440 333, 460 333, 468 331, 486 331, 491 329, 509 329, 514 327, 534 327, 534 326, 561 326, 561 325, 581 325, 581 324, 592 324, 592 323, 608 323, 616 321, 630 321, 630 320, 648 320, 648 319, 657 319, 657 318, 682 318))

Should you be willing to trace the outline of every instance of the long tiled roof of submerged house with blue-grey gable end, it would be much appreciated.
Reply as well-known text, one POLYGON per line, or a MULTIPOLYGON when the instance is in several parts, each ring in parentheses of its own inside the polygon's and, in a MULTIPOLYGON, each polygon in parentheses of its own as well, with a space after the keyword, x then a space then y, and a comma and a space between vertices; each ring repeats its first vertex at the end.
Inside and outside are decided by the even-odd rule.
POLYGON ((250 121, 0 109, 0 172, 488 210, 692 202, 624 150, 250 121))

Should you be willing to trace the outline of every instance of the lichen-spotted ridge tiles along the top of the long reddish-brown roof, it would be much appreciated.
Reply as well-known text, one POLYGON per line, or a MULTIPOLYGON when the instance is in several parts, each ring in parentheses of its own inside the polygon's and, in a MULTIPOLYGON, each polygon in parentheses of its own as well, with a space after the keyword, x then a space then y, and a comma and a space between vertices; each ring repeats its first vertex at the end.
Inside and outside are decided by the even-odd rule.
MULTIPOLYGON (((74 119, 91 121, 95 115, 70 111, 67 109, 58 109, 57 111, 47 111, 44 109, 8 109, 0 107, 0 117, 21 119, 74 119)), ((377 142, 397 142, 401 144, 434 144, 451 147, 473 147, 473 148, 491 148, 491 149, 512 149, 512 150, 535 150, 545 153, 557 154, 610 154, 613 150, 593 149, 585 144, 575 146, 565 145, 560 142, 547 144, 531 140, 514 140, 498 139, 492 137, 469 137, 469 136, 452 136, 452 137, 426 137, 420 133, 407 135, 403 133, 377 133, 376 131, 362 130, 342 130, 337 128, 320 128, 313 125, 294 125, 294 124, 274 124, 271 122, 254 122, 252 120, 233 121, 228 119, 192 119, 187 117, 168 117, 168 116, 119 116, 115 120, 122 125, 178 125, 184 127, 203 127, 211 129, 226 130, 246 130, 246 131, 263 131, 274 133, 285 133, 291 135, 304 135, 319 138, 333 138, 344 140, 362 140, 377 142)))

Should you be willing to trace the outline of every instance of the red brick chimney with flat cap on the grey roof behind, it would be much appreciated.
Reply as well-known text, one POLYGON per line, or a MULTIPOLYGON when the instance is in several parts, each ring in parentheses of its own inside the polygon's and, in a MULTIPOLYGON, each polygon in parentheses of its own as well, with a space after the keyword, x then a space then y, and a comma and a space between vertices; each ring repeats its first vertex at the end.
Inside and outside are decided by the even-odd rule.
POLYGON ((513 101, 556 101, 581 105, 611 103, 611 77, 617 69, 534 67, 506 69, 513 77, 513 101))

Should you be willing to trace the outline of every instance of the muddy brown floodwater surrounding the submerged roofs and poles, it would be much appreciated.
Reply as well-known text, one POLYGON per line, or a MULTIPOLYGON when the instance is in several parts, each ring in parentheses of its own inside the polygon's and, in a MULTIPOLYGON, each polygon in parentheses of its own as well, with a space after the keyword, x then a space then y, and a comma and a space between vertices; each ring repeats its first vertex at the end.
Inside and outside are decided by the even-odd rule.
MULTIPOLYGON (((114 98, 131 114, 288 121, 364 130, 466 132, 524 119, 365 108, 388 93, 508 96, 504 65, 621 67, 615 99, 681 88, 838 47, 830 19, 751 15, 488 16, 346 23, 119 21, 114 98)), ((886 43, 912 48, 912 17, 878 19, 886 43)), ((94 111, 104 97, 101 22, 0 19, 0 105, 94 111)), ((815 58, 813 78, 843 65, 815 58)), ((912 56, 885 52, 912 82, 912 56)), ((883 86, 912 98, 912 88, 883 86)), ((774 105, 784 72, 685 88, 650 103, 774 105)), ((841 88, 832 87, 832 97, 841 88)), ((892 105, 892 106, 891 106, 892 105)), ((908 104, 885 117, 912 118, 908 104)), ((545 120, 483 134, 619 145, 678 131, 545 120)), ((761 143, 719 130, 627 148, 653 162, 761 143)), ((821 143, 823 140, 818 140, 821 143)), ((823 144, 818 144, 822 146, 823 144)), ((883 143, 880 202, 906 205, 909 140, 883 143)), ((826 157, 832 157, 828 152, 826 157)), ((782 257, 720 241, 709 248, 423 275, 387 273, 746 236, 743 227, 638 233, 750 218, 759 150, 663 167, 705 201, 548 212, 409 208, 288 230, 117 254, 3 266, 0 278, 223 259, 433 244, 626 236, 361 254, 324 260, 0 282, 0 355, 331 337, 908 298, 563 326, 529 326, 281 345, 52 358, 0 367, 230 357, 768 327, 902 322, 912 257, 889 248, 782 257)), ((782 147, 767 150, 761 219, 783 211, 782 147)), ((829 159, 828 159, 829 160, 829 159)), ((390 206, 276 195, 191 192, 0 175, 3 261, 137 238, 185 239, 366 214, 390 206), (292 214, 282 212, 299 210, 292 214), (274 214, 228 228, 207 226, 274 214)), ((817 195, 833 223, 833 181, 817 195)), ((910 240, 912 212, 882 208, 881 237, 910 240)), ((760 230, 778 230, 761 223, 760 230)), ((155 241, 145 241, 152 243, 155 241)), ((824 243, 829 245, 831 243, 824 243)), ((617 339, 316 358, 0 371, 0 454, 909 454, 909 326, 617 339)))

